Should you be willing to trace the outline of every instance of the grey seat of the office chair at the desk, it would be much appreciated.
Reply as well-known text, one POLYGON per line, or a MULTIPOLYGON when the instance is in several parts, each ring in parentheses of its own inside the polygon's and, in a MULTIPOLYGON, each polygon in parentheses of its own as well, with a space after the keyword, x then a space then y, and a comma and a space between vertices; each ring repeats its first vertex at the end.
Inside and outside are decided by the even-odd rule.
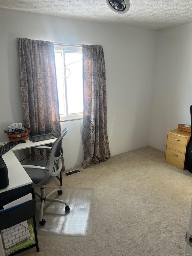
MULTIPOLYGON (((28 162, 27 165, 37 165, 37 166, 42 166, 46 167, 47 161, 45 160, 35 160, 28 162)), ((26 170, 27 174, 29 177, 32 179, 32 182, 37 184, 39 183, 42 179, 44 179, 44 171, 42 170, 36 170, 36 169, 28 169, 26 170)))

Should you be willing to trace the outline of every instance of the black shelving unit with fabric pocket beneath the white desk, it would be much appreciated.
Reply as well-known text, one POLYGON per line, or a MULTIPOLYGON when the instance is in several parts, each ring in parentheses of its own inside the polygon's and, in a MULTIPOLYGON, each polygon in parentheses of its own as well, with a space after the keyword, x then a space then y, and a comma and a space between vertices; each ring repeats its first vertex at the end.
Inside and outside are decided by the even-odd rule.
POLYGON ((30 248, 36 247, 37 252, 39 251, 38 246, 38 237, 37 237, 37 229, 35 222, 35 211, 36 211, 36 201, 35 201, 35 192, 32 187, 29 188, 21 188, 18 191, 10 191, 10 193, 0 195, 0 209, 3 209, 3 206, 7 203, 10 203, 20 197, 23 197, 26 194, 32 193, 32 200, 27 203, 22 204, 21 206, 10 210, 9 212, 0 213, 0 229, 5 229, 12 227, 22 221, 33 219, 33 229, 35 234, 35 243, 26 247, 19 249, 10 253, 9 255, 15 255, 22 251, 26 251, 30 248))

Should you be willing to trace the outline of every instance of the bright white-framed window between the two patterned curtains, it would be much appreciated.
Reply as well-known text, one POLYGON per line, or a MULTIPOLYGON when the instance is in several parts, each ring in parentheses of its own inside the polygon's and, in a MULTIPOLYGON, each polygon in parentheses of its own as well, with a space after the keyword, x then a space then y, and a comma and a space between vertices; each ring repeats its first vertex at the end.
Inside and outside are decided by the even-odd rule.
POLYGON ((54 44, 61 121, 83 116, 82 47, 54 44))

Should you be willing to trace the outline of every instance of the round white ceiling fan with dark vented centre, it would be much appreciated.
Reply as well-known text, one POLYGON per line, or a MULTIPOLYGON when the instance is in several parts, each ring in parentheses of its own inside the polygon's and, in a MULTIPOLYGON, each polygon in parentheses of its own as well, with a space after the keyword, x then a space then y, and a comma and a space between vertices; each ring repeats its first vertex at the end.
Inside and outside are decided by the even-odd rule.
POLYGON ((129 10, 129 0, 105 0, 107 6, 118 14, 124 14, 129 10))

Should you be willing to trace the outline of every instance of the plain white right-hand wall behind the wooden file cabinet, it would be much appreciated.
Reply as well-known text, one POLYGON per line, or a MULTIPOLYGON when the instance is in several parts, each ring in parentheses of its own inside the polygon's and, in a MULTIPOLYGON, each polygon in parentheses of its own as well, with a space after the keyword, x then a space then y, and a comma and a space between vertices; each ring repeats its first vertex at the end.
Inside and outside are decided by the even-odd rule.
POLYGON ((158 31, 149 145, 165 151, 167 131, 190 125, 192 23, 158 31))

